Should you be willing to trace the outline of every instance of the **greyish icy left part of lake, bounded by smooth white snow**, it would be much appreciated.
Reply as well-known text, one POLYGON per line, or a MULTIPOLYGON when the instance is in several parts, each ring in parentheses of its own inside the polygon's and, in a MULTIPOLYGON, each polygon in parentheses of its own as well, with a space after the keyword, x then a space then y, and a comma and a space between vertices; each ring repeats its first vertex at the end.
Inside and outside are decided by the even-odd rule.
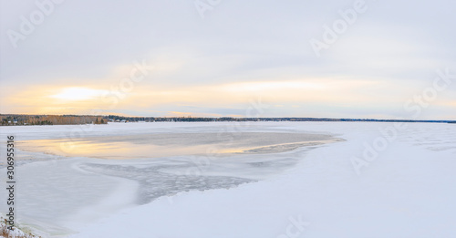
POLYGON ((22 164, 20 222, 49 235, 181 191, 264 180, 295 166, 306 150, 339 140, 245 123, 8 127, 5 135, 15 135, 22 164))

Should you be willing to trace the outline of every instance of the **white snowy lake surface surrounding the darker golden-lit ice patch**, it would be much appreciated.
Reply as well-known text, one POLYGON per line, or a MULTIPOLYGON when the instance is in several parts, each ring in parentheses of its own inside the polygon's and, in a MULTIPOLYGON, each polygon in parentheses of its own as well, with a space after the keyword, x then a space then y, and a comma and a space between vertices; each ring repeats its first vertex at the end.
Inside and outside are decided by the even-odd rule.
MULTIPOLYGON (((144 127, 161 133, 203 133, 230 131, 232 126, 231 122, 114 123, 96 126, 86 134, 150 131, 144 127)), ((141 188, 161 184, 117 176, 119 166, 133 168, 121 172, 134 173, 135 178, 144 177, 140 170, 151 163, 169 166, 161 170, 165 173, 180 174, 188 158, 99 160, 22 151, 25 160, 40 161, 17 168, 19 222, 45 236, 73 238, 456 237, 456 125, 394 126, 379 122, 235 126, 236 132, 329 134, 344 141, 277 153, 223 156, 210 160, 199 175, 251 181, 223 180, 234 186, 165 192, 163 196, 144 191, 142 202, 135 195, 141 188), (378 153, 372 156, 366 152, 371 147, 382 150, 369 149, 378 153), (359 173, 352 164, 355 157, 366 161, 359 173), (279 169, 253 170, 248 160, 279 169), (98 165, 90 167, 93 164, 98 165)), ((75 127, 2 128, 1 136, 13 133, 22 140, 59 139, 75 127)))

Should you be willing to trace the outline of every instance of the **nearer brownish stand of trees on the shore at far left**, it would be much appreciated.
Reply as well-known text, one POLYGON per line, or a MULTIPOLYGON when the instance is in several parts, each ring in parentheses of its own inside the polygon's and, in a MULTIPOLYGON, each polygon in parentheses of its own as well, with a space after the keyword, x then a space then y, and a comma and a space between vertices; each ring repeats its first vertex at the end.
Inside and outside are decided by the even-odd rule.
POLYGON ((107 124, 102 116, 0 114, 2 126, 107 124))

